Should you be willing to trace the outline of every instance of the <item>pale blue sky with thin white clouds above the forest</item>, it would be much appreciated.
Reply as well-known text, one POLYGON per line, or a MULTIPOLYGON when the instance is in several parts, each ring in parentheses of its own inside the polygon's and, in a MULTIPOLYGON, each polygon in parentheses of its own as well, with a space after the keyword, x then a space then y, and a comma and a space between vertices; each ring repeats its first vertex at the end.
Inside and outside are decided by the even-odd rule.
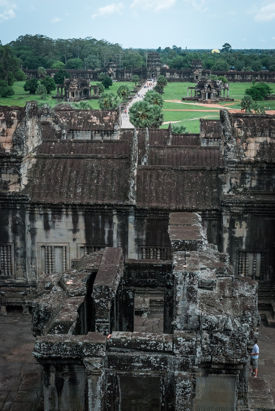
POLYGON ((93 37, 124 48, 275 48, 270 0, 0 0, 0 40, 93 37))

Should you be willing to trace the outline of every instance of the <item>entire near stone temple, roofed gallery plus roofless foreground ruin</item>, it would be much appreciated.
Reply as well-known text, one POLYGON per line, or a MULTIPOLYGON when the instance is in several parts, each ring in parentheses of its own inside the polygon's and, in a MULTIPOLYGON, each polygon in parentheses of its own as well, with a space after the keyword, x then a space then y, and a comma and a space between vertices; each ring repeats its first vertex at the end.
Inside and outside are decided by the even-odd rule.
POLYGON ((272 115, 199 134, 2 107, 0 305, 33 311, 47 411, 248 410, 274 324, 272 115))

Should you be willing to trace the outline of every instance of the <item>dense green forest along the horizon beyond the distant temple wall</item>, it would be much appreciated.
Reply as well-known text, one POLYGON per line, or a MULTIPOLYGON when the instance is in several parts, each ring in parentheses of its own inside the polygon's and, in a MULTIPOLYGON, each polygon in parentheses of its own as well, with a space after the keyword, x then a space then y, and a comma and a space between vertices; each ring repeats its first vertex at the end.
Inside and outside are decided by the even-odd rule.
MULTIPOLYGON (((228 43, 226 43, 228 45, 228 43)), ((211 49, 187 50, 172 46, 158 49, 124 49, 118 43, 106 40, 57 39, 36 34, 19 36, 9 43, 14 56, 20 59, 22 67, 28 69, 67 68, 67 69, 100 69, 108 62, 115 62, 118 67, 131 69, 146 66, 147 55, 157 51, 162 64, 170 68, 185 69, 191 61, 201 59, 203 66, 211 70, 254 70, 263 67, 275 71, 275 52, 265 49, 232 49, 226 47, 221 53, 211 53, 211 49)))

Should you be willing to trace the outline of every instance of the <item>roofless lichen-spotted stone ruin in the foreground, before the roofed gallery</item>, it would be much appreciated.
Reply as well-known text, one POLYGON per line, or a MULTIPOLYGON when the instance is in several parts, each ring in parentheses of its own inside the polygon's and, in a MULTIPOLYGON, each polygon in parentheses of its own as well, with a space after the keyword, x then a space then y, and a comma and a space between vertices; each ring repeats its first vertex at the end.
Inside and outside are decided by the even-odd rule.
POLYGON ((173 268, 107 248, 41 278, 33 354, 44 409, 247 408, 257 282, 234 277, 198 214, 171 213, 169 234, 173 268))

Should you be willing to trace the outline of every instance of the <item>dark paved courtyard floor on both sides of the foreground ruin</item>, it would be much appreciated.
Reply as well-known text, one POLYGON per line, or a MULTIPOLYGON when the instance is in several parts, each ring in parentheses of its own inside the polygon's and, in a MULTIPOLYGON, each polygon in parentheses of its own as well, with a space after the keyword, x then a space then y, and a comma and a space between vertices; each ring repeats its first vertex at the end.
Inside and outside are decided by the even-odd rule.
MULTIPOLYGON (((36 411, 40 365, 32 356, 31 315, 8 309, 0 316, 0 330, 0 411, 36 411)), ((262 322, 259 334, 259 378, 249 378, 248 401, 251 409, 270 411, 275 409, 275 328, 262 322)))

